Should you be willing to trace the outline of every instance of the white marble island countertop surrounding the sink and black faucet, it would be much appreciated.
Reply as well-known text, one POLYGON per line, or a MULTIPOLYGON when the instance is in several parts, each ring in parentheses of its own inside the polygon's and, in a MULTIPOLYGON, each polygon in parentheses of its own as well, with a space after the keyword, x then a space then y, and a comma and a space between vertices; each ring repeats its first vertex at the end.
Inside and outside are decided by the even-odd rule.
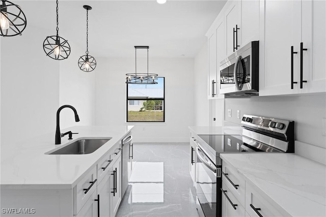
POLYGON ((2 189, 72 189, 81 176, 90 171, 101 157, 119 142, 133 126, 76 126, 62 129, 71 131, 55 145, 55 134, 38 136, 35 139, 17 143, 1 152, 2 189), (45 154, 54 148, 64 146, 82 137, 112 137, 93 153, 89 154, 45 154))

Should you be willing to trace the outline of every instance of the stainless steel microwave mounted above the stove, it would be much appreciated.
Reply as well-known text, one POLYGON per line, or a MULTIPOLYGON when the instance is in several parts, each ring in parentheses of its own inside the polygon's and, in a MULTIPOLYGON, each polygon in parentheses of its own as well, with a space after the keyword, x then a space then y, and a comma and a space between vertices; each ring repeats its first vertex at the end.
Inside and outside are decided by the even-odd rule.
POLYGON ((258 96, 259 41, 241 47, 220 63, 220 94, 228 97, 258 96))

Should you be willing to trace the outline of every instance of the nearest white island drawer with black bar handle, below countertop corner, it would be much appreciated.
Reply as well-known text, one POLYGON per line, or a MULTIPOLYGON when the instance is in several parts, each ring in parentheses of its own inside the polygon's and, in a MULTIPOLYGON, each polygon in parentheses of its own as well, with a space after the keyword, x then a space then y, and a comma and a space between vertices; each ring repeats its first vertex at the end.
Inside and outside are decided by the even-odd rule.
POLYGON ((93 167, 93 169, 89 173, 87 173, 87 175, 84 175, 83 179, 80 180, 74 187, 74 214, 77 214, 79 212, 80 208, 85 205, 86 201, 96 190, 96 178, 96 167, 93 167))

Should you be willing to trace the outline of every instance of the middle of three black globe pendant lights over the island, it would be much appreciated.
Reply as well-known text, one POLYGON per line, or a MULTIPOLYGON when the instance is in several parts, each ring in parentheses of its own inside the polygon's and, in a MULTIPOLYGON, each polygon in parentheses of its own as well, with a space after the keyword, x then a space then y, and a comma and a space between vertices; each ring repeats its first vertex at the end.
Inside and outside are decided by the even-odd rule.
POLYGON ((57 0, 57 35, 48 36, 43 42, 43 49, 52 59, 62 60, 68 58, 70 45, 68 41, 59 36, 59 1, 57 0))

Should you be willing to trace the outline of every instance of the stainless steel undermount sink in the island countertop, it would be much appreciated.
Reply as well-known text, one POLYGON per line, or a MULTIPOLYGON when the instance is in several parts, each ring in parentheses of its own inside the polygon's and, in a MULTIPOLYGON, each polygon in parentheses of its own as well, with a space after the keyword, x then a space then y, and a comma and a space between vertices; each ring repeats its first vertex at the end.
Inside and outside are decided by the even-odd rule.
POLYGON ((111 138, 105 139, 79 139, 60 149, 47 154, 88 154, 93 153, 111 138))

